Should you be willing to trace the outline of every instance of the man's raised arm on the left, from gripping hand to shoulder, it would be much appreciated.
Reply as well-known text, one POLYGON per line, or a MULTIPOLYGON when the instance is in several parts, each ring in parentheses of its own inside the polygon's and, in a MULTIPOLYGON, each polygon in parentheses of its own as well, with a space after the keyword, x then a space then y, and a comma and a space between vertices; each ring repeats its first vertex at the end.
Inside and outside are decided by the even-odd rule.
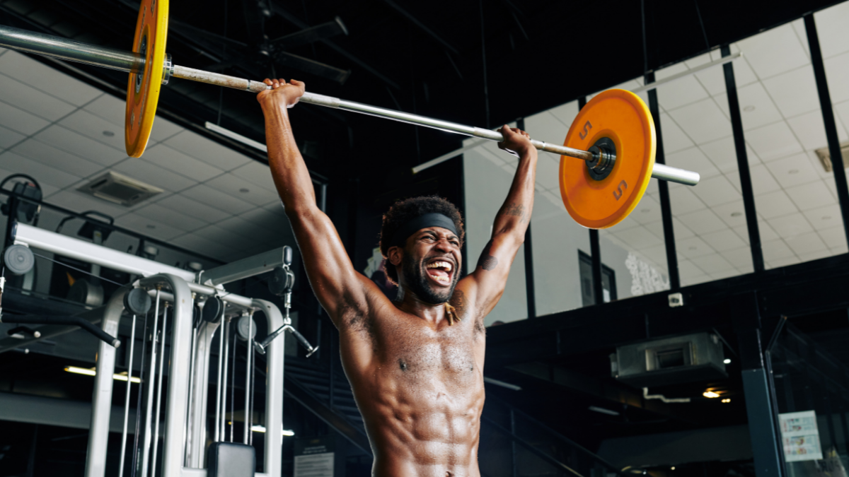
MULTIPOLYGON (((289 108, 304 93, 304 83, 292 80, 266 80, 273 89, 257 95, 266 123, 268 163, 274 185, 295 231, 306 275, 312 290, 337 327, 342 323, 341 305, 365 306, 362 276, 351 259, 330 218, 316 205, 312 178, 295 143, 289 121, 289 108)), ((368 281, 368 280, 365 280, 368 281)))

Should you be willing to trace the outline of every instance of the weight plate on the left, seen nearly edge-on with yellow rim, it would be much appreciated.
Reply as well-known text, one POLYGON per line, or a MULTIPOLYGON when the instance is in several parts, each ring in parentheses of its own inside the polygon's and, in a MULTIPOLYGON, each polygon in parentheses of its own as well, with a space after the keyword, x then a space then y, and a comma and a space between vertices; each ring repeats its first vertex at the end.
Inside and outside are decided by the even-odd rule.
POLYGON ((156 104, 162 86, 165 43, 168 35, 168 0, 142 0, 138 8, 132 51, 144 57, 144 70, 130 73, 127 84, 127 115, 124 143, 127 154, 141 157, 154 126, 156 104))

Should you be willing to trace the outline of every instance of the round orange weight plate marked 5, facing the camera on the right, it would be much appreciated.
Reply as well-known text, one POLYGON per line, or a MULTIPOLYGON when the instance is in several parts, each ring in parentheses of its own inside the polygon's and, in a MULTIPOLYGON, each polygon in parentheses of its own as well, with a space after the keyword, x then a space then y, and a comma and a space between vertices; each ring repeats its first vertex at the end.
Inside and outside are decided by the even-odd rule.
POLYGON ((655 122, 636 94, 624 89, 599 93, 578 113, 564 145, 590 149, 604 138, 616 147, 610 175, 590 175, 587 163, 560 156, 560 195, 569 215, 584 227, 621 222, 643 197, 655 166, 655 122))

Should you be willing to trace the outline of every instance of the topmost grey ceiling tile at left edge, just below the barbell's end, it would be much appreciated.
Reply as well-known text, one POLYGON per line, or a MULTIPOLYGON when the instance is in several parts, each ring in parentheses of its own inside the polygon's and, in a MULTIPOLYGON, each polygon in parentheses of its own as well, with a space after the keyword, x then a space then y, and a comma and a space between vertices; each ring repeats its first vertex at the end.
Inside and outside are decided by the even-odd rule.
POLYGON ((59 70, 14 51, 0 58, 0 72, 76 106, 82 106, 103 94, 96 87, 90 87, 59 70))

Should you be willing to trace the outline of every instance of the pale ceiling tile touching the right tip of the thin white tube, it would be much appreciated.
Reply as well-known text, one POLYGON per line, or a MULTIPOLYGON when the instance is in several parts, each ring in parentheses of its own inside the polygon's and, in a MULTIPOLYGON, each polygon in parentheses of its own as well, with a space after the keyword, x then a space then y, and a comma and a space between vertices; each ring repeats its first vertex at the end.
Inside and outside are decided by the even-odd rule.
POLYGON ((768 78, 807 65, 809 60, 796 32, 781 25, 737 42, 757 76, 768 78))

